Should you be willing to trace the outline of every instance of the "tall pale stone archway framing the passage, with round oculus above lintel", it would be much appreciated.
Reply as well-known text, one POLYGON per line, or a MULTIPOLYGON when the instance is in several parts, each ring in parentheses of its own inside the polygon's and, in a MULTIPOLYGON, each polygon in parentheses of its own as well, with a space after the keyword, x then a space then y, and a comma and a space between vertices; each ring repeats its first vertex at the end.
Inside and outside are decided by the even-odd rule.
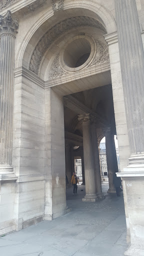
MULTIPOLYGON (((109 64, 108 47, 103 35, 106 32, 114 33, 114 18, 105 7, 98 3, 89 1, 87 5, 86 1, 82 1, 82 4, 81 7, 80 1, 73 1, 72 5, 71 3, 69 5, 68 1, 64 1, 62 14, 57 11, 53 15, 52 9, 47 7, 47 10, 43 9, 39 12, 38 18, 33 12, 32 16, 27 15, 25 20, 24 18, 19 20, 19 31, 15 41, 16 64, 13 101, 13 166, 18 179, 17 194, 14 195, 17 203, 14 204, 13 201, 13 207, 15 207, 13 213, 15 220, 13 221, 15 222, 12 223, 17 230, 28 226, 29 223, 41 219, 53 219, 67 212, 64 178, 63 95, 111 84, 111 63, 109 64), (82 9, 84 9, 84 16, 81 15, 82 9), (67 18, 69 10, 71 16, 67 18), (72 18, 73 20, 78 19, 78 21, 75 23, 72 18), (60 24, 63 29, 63 20, 66 20, 64 22, 67 23, 70 20, 76 25, 69 25, 71 30, 65 29, 66 31, 63 31, 62 34, 55 32, 56 36, 53 37, 53 42, 51 39, 50 44, 48 41, 44 41, 42 38, 47 35, 49 37, 50 32, 54 36, 54 31, 56 31, 54 29, 57 29, 56 24, 60 24), (28 30, 29 23, 32 23, 32 26, 28 30), (23 31, 22 26, 26 27, 23 31), (80 29, 78 29, 79 27, 80 29), (82 31, 80 31, 81 27, 82 31), (70 32, 69 35, 68 32, 70 32), (47 71, 52 64, 55 65, 53 61, 57 60, 55 54, 58 54, 58 50, 60 53, 62 52, 61 42, 69 43, 72 33, 74 36, 78 36, 77 39, 87 40, 90 47, 93 47, 93 53, 91 56, 89 55, 90 59, 86 60, 86 65, 81 69, 74 67, 75 69, 72 71, 69 67, 69 69, 67 68, 68 74, 50 80, 47 71), (88 40, 89 33, 93 36, 88 40), (67 41, 64 36, 67 37, 67 41), (22 43, 20 43, 21 41, 22 43), (40 42, 46 42, 48 49, 43 51, 40 42), (54 42, 56 43, 54 44, 54 42), (42 55, 39 58, 38 51, 41 50, 42 55), (36 72, 29 69, 30 60, 31 58, 34 60, 34 57, 36 64, 38 63, 38 68, 35 68, 36 72), (91 65, 93 60, 94 64, 91 65), (24 187, 27 189, 27 194, 30 195, 29 200, 27 197, 22 197, 25 191, 24 187), (39 197, 35 196, 36 194, 39 197), (20 196, 22 198, 20 205, 25 204, 25 213, 19 206, 20 196), (35 205, 38 205, 36 209, 35 205)), ((116 35, 113 33, 110 36, 115 39, 116 35)), ((111 49, 117 50, 116 47, 111 49)), ((85 53, 87 52, 84 51, 82 54, 85 53)), ((59 61, 62 65, 60 58, 59 61)), ((64 66, 62 67, 64 68, 64 66)))

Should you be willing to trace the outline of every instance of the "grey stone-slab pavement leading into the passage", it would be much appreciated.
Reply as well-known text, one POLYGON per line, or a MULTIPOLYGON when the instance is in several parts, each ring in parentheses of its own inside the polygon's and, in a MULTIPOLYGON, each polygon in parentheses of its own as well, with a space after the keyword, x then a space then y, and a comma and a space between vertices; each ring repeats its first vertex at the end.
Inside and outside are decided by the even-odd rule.
MULTIPOLYGON (((107 184, 102 185, 106 193, 107 184)), ((81 191, 83 189, 83 191, 81 191)), ((123 256, 126 225, 123 196, 82 202, 67 188, 68 214, 0 237, 0 256, 123 256)))

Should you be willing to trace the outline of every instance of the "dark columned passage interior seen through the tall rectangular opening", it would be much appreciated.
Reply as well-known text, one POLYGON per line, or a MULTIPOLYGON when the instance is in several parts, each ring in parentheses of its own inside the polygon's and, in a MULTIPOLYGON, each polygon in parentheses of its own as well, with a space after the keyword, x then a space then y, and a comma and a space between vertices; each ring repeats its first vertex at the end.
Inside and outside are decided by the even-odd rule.
POLYGON ((119 160, 118 144, 115 148, 114 142, 114 139, 117 140, 114 135, 116 128, 111 86, 105 85, 64 96, 64 130, 65 173, 68 184, 71 184, 71 176, 75 171, 79 184, 85 184, 87 189, 83 200, 103 199, 101 183, 108 183, 108 192, 115 192, 113 175, 120 171, 120 165, 119 161, 117 164, 117 159, 119 160), (83 114, 80 115, 81 113, 83 114), (86 136, 89 139, 85 138, 83 133, 85 127, 81 122, 81 116, 84 118, 83 122, 89 125, 90 129, 86 131, 86 136), (106 138, 106 141, 104 140, 104 145, 103 147, 101 145, 100 148, 98 140, 102 136, 104 139, 106 138), (92 155, 89 155, 89 152, 92 155), (88 166, 87 161, 89 162, 88 166), (90 177, 91 180, 95 179, 91 191, 90 177))

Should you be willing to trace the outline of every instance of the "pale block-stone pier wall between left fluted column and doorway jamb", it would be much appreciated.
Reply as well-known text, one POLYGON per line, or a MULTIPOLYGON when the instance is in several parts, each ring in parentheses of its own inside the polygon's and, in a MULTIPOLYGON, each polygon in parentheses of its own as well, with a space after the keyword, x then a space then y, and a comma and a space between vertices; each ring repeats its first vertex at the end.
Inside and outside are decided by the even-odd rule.
POLYGON ((18 219, 17 229, 20 229, 21 225, 26 226, 27 220, 39 216, 42 218, 44 214, 44 111, 44 89, 24 77, 16 77, 14 84, 13 167, 15 175, 18 176, 14 198, 14 214, 15 219, 18 219))

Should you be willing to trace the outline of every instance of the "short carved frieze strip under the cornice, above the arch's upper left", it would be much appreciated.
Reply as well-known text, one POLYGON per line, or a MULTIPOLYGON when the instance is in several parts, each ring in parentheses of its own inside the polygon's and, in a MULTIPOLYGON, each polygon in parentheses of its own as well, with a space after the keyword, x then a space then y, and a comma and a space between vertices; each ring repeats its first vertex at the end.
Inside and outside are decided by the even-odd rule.
POLYGON ((21 9, 20 13, 21 15, 26 15, 34 10, 37 10, 39 9, 40 7, 42 7, 44 5, 44 3, 46 2, 47 0, 36 0, 32 3, 30 3, 29 5, 25 6, 24 8, 21 9))

